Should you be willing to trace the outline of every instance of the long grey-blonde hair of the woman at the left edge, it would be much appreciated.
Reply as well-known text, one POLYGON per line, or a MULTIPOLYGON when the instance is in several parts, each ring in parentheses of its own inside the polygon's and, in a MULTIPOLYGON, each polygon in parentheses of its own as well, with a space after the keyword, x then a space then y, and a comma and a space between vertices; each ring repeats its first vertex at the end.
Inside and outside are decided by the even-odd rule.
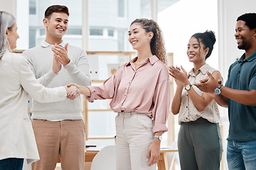
POLYGON ((10 51, 9 42, 6 37, 6 30, 11 30, 14 27, 15 18, 11 13, 0 11, 0 60, 3 57, 6 48, 10 51))

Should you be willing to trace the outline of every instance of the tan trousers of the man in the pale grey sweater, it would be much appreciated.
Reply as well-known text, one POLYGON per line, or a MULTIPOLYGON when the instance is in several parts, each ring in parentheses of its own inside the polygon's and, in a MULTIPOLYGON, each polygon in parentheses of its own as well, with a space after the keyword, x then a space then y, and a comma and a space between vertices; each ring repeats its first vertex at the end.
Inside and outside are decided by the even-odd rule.
POLYGON ((82 120, 33 120, 40 160, 32 170, 54 170, 58 154, 62 170, 83 170, 85 164, 85 124, 82 120))

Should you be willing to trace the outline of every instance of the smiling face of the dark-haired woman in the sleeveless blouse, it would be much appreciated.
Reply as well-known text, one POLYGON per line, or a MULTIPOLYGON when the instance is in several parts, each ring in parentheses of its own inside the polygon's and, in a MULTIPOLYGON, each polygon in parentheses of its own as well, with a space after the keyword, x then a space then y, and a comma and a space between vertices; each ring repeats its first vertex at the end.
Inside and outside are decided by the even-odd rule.
POLYGON ((206 50, 203 50, 203 43, 198 42, 198 40, 194 37, 192 37, 188 41, 188 60, 189 62, 193 63, 204 63, 206 61, 206 55, 208 53, 208 48, 206 50))

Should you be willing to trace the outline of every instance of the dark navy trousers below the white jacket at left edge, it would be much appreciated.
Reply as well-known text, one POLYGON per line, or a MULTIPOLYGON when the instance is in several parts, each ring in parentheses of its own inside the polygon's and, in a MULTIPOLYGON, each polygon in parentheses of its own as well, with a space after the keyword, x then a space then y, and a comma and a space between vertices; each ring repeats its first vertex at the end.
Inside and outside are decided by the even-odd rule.
POLYGON ((22 170, 23 158, 7 158, 0 160, 0 170, 22 170))

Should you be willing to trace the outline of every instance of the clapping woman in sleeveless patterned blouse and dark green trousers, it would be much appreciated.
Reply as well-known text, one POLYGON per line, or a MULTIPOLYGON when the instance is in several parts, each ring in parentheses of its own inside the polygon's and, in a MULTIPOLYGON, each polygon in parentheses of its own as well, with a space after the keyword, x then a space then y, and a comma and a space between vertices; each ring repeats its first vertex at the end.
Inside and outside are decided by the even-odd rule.
POLYGON ((223 152, 220 135, 220 113, 212 96, 199 90, 194 83, 206 79, 207 72, 215 79, 222 79, 220 72, 206 64, 215 44, 213 31, 196 33, 188 41, 188 60, 193 69, 170 67, 177 89, 171 111, 178 114, 178 155, 181 169, 217 170, 223 152), (184 89, 185 88, 185 89, 184 89))

